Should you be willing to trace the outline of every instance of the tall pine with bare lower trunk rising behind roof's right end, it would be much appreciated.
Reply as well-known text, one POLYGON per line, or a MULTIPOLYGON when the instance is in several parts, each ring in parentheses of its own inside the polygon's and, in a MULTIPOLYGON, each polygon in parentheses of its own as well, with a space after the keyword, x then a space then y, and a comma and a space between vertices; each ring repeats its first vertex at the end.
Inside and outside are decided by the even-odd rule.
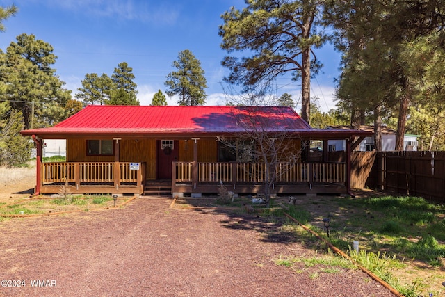
POLYGON ((301 79, 302 113, 309 122, 310 78, 321 65, 311 58, 312 47, 323 44, 316 32, 321 1, 245 0, 243 10, 223 14, 219 34, 227 52, 245 51, 250 57, 227 56, 223 66, 231 73, 225 80, 250 88, 261 80, 271 81, 291 73, 301 79), (312 72, 312 74, 311 74, 312 72))

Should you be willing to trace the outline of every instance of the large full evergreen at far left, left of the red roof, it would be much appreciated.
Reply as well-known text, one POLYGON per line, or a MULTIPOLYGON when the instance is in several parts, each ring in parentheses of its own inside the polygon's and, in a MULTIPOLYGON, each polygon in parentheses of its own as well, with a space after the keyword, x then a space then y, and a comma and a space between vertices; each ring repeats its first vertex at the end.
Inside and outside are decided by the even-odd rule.
POLYGON ((65 103, 71 95, 51 68, 57 58, 52 51, 47 42, 22 34, 0 54, 0 81, 5 86, 0 99, 22 111, 24 129, 34 123, 38 127, 53 125, 65 116, 65 103))

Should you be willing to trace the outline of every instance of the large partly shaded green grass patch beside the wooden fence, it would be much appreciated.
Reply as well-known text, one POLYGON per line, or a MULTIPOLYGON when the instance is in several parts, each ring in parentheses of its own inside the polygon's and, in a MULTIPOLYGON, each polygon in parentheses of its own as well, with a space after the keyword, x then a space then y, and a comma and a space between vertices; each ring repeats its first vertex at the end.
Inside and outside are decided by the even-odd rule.
MULTIPOLYGON (((423 198, 410 196, 328 199, 329 201, 307 202, 307 204, 318 204, 321 206, 318 209, 325 211, 325 214, 316 212, 309 215, 307 221, 315 222, 316 226, 304 223, 305 218, 301 218, 300 214, 291 215, 298 217, 297 220, 326 239, 326 230, 321 219, 330 217, 329 241, 347 252, 350 251, 353 241, 359 240, 360 252, 365 251, 365 255, 359 254, 355 257, 362 257, 363 266, 389 282, 405 296, 419 296, 419 290, 426 287, 426 282, 416 280, 408 285, 399 283, 391 273, 407 269, 408 266, 403 263, 403 259, 416 259, 433 266, 444 266, 444 205, 430 204, 423 198), (397 257, 380 255, 380 250, 397 257)), ((299 211, 304 211, 305 205, 300 204, 299 211)), ((308 207, 313 208, 311 205, 308 207)), ((300 237, 300 234, 298 236, 300 237)), ((309 237, 302 236, 302 244, 317 250, 323 248, 309 237)))

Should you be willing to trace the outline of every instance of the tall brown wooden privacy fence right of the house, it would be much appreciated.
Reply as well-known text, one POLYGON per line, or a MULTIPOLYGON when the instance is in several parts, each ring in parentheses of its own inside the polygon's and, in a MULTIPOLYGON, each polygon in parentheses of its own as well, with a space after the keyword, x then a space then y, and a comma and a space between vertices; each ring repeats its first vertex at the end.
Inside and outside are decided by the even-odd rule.
MULTIPOLYGON (((344 152, 331 152, 343 161, 344 152)), ((352 152, 351 188, 376 188, 445 202, 445 152, 352 152)))

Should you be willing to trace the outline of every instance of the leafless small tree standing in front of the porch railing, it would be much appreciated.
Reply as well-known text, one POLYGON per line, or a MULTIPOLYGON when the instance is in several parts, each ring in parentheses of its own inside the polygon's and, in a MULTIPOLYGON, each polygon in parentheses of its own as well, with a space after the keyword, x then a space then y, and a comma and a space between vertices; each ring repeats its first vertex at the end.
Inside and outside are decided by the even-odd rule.
POLYGON ((295 111, 287 106, 273 106, 274 100, 263 91, 232 98, 231 102, 237 105, 232 115, 241 132, 218 138, 236 152, 236 161, 246 163, 238 168, 238 174, 262 184, 268 204, 277 180, 300 160, 302 143, 295 133, 296 122, 291 119, 295 111))

